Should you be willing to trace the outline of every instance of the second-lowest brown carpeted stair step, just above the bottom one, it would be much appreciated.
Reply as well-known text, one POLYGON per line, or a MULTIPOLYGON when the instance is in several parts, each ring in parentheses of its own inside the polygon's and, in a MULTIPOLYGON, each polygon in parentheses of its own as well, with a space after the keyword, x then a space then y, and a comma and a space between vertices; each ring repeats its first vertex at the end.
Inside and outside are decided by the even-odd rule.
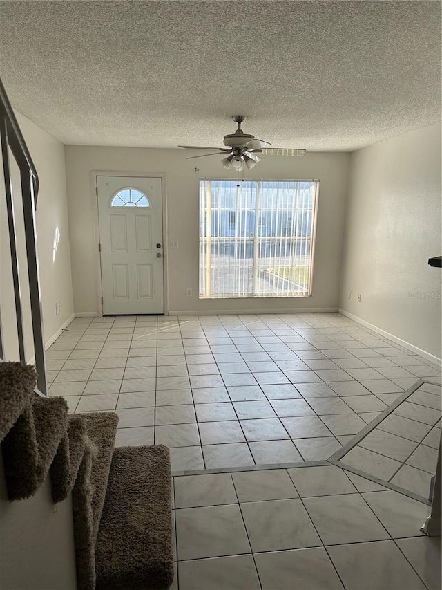
POLYGON ((95 589, 95 543, 102 517, 115 437, 117 414, 76 414, 86 421, 86 453, 73 489, 77 587, 95 589))

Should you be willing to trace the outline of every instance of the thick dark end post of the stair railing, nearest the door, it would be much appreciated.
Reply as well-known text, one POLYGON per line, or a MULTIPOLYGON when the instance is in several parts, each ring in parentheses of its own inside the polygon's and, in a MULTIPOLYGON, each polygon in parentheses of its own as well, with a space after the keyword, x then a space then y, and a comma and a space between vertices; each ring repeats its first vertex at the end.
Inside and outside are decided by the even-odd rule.
POLYGON ((39 391, 47 394, 46 361, 44 350, 43 315, 39 262, 37 256, 37 230, 35 227, 34 183, 30 170, 21 170, 21 194, 23 196, 23 221, 25 225, 26 255, 28 258, 30 310, 32 314, 32 333, 34 336, 35 368, 39 391))

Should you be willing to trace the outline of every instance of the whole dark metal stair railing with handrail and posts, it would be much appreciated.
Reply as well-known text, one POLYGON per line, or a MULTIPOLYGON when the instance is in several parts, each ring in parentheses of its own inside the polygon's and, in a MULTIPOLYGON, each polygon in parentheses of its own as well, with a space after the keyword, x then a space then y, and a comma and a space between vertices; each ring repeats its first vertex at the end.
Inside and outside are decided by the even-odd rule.
MULTIPOLYGON (((12 268, 12 283, 15 297, 15 318, 19 342, 19 358, 26 362, 23 314, 21 312, 21 284, 19 277, 19 257, 17 252, 17 232, 12 197, 12 174, 10 153, 15 158, 20 172, 21 200, 23 203, 23 225, 26 241, 26 271, 29 278, 30 311, 32 318, 32 339, 34 342, 35 367, 37 369, 37 393, 47 394, 46 358, 44 347, 43 315, 41 313, 41 296, 39 281, 39 264, 37 255, 37 232, 35 227, 35 210, 39 177, 32 162, 28 147, 21 133, 14 111, 12 110, 5 88, 0 80, 0 147, 5 183, 6 212, 12 268)), ((0 315, 0 360, 4 360, 4 348, 0 315)))

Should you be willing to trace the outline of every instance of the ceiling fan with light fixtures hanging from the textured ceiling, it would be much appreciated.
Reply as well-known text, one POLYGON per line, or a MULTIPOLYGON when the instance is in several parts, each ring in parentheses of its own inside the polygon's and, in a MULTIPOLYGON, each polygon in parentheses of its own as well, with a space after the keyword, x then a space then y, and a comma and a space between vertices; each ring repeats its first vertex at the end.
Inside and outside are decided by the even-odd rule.
POLYGON ((271 148, 268 141, 256 139, 255 136, 249 133, 244 133, 241 129, 241 124, 246 119, 245 115, 233 115, 232 119, 238 124, 238 129, 235 133, 229 133, 224 136, 224 145, 227 147, 204 147, 200 145, 179 145, 178 147, 184 147, 186 149, 217 149, 218 151, 213 154, 201 154, 200 156, 190 156, 186 160, 192 158, 203 158, 204 156, 226 156, 221 160, 224 168, 244 170, 244 165, 248 170, 251 170, 253 166, 256 166, 258 162, 262 161, 262 158, 258 154, 273 155, 273 156, 304 156, 307 150, 305 149, 292 149, 292 148, 271 148))

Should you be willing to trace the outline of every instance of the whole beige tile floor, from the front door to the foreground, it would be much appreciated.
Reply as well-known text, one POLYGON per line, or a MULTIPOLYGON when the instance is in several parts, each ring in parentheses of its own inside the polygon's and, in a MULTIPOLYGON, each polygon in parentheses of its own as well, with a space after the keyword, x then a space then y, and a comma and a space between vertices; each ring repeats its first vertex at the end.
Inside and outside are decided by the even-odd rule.
MULTIPOLYGON (((186 472, 327 459, 440 369, 338 314, 105 317, 70 324, 48 376, 71 412, 117 412, 118 445, 164 443, 186 472)), ((433 448, 439 426, 413 414, 422 398, 410 405, 381 436, 433 448)), ((337 466, 173 488, 173 590, 441 588, 440 538, 419 531, 428 507, 337 466)))

